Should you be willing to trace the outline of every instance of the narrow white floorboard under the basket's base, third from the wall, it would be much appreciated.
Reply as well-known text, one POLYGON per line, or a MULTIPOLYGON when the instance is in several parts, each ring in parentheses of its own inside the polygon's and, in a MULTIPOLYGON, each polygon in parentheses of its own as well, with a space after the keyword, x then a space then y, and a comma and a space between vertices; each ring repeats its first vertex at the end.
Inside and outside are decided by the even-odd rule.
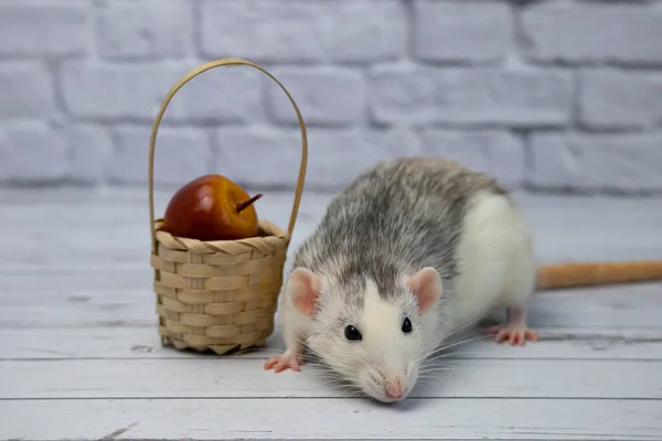
MULTIPOLYGON (((460 341, 462 337, 456 337, 460 341)), ((472 336, 467 336, 472 338, 472 336)), ((265 359, 282 351, 275 333, 268 347, 256 348, 239 358, 265 359)), ((0 359, 71 358, 200 358, 206 354, 162 347, 153 326, 148 327, 57 327, 0 329, 0 359)), ((541 341, 524 347, 495 344, 491 338, 456 346, 453 357, 516 359, 662 359, 662 330, 621 327, 547 327, 541 341)), ((220 361, 222 363, 222 361, 220 361)))

